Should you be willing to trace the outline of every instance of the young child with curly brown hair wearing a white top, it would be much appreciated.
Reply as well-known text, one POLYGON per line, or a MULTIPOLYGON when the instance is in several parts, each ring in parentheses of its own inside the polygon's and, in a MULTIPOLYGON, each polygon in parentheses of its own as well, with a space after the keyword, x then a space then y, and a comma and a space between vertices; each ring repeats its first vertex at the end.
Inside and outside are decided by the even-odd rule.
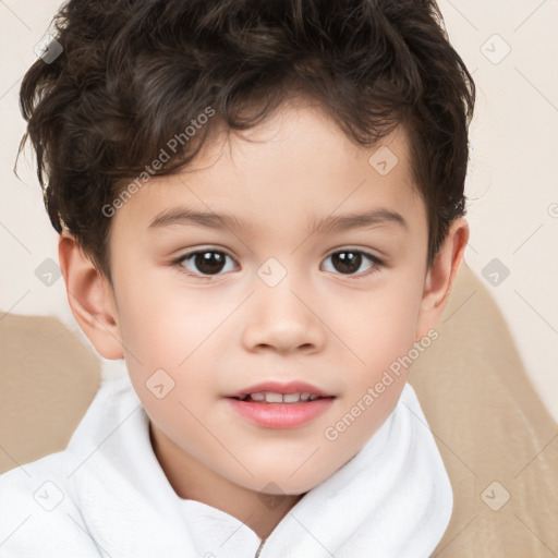
POLYGON ((129 374, 0 477, 1 556, 429 556, 452 493, 400 363, 468 241, 475 96, 435 2, 56 28, 21 104, 73 315, 129 374))

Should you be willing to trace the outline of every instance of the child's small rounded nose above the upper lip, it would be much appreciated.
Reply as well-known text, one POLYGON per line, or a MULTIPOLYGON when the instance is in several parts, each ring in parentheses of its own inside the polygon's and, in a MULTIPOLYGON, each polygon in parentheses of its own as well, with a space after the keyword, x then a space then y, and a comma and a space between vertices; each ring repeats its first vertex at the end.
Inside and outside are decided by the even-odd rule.
POLYGON ((269 288, 260 286, 251 296, 248 317, 242 332, 246 350, 278 353, 318 352, 325 342, 319 308, 287 278, 269 288), (294 292, 293 292, 294 291, 294 292))

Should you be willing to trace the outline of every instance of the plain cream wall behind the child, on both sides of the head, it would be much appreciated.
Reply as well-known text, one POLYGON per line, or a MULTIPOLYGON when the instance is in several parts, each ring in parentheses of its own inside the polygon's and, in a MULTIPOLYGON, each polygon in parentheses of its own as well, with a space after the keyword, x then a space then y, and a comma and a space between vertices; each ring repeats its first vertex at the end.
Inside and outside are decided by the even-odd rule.
MULTIPOLYGON (((54 315, 75 328, 62 279, 47 287, 35 275, 45 259, 57 260, 57 235, 28 150, 21 180, 13 174, 24 131, 17 89, 59 4, 0 1, 0 308, 54 315)), ((558 421, 558 0, 439 5, 478 89, 465 258, 496 299, 536 391, 558 421), (494 258, 509 269, 504 280, 500 271, 498 284, 492 284, 495 269, 486 267, 494 258)), ((121 364, 102 364, 106 375, 123 373, 121 364)))

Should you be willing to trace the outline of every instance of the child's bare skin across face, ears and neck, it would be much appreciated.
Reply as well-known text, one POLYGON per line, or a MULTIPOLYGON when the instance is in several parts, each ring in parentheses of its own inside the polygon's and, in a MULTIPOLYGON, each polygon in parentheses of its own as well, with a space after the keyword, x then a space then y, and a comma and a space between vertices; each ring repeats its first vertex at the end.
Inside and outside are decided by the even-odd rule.
POLYGON ((258 128, 216 136, 180 174, 151 179, 135 193, 112 218, 111 281, 68 232, 61 235, 73 314, 100 355, 125 359, 170 484, 259 537, 385 422, 409 369, 336 440, 325 437, 434 328, 446 304, 469 228, 457 219, 427 267, 426 209, 407 142, 403 129, 381 142, 399 162, 380 175, 368 162, 378 146, 352 144, 317 105, 299 99, 258 128), (178 207, 232 214, 246 227, 149 228, 178 207), (407 225, 315 231, 328 216, 378 208, 407 225), (201 247, 231 256, 218 275, 204 277, 207 268, 194 258, 175 262, 201 247), (343 248, 381 264, 363 256, 343 274, 330 257, 343 248), (287 271, 276 287, 257 275, 269 257, 287 271), (162 399, 145 385, 160 368, 175 383, 162 399), (336 399, 308 425, 264 428, 223 397, 266 379, 302 379, 336 399), (262 493, 278 494, 275 506, 262 493))

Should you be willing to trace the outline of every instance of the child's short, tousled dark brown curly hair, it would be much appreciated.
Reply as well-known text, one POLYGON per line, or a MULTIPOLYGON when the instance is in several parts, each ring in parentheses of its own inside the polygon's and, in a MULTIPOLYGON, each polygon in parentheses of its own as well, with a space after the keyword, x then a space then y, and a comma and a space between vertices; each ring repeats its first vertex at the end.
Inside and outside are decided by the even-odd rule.
POLYGON ((31 138, 54 229, 109 279, 102 208, 208 107, 156 174, 192 161, 218 123, 254 126, 296 92, 359 145, 404 125, 429 263, 464 214, 475 85, 435 1, 70 0, 53 28, 61 53, 21 86, 21 148, 31 138))

